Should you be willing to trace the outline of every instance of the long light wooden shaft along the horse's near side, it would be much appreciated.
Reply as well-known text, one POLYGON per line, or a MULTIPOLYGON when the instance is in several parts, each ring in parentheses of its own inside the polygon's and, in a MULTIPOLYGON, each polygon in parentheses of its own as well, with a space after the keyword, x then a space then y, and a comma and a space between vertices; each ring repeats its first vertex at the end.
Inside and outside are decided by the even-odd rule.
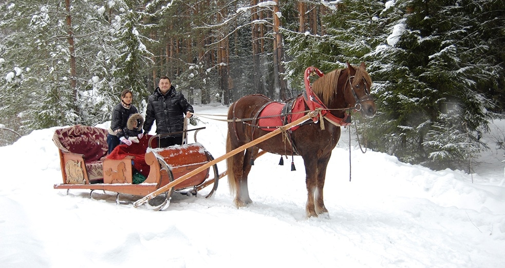
POLYGON ((159 194, 162 194, 162 193, 168 191, 168 189, 170 189, 172 187, 175 187, 176 185, 180 184, 184 180, 186 180, 186 179, 188 179, 188 178, 190 178, 190 177, 192 177, 192 176, 200 173, 201 171, 203 171, 203 170, 205 170, 205 169, 207 169, 209 167, 212 167, 215 163, 218 163, 218 162, 220 162, 222 160, 228 159, 228 158, 230 158, 230 157, 232 157, 232 156, 240 153, 241 151, 244 151, 244 150, 248 149, 249 147, 253 147, 253 146, 257 145, 258 143, 260 143, 260 142, 262 142, 264 140, 267 140, 267 139, 269 139, 269 138, 271 138, 271 137, 279 134, 280 132, 282 132, 282 130, 284 130, 284 131, 289 130, 290 128, 292 128, 292 127, 294 127, 296 125, 299 125, 299 124, 305 122, 306 120, 308 120, 311 117, 314 117, 316 115, 317 115, 317 113, 314 112, 314 111, 309 112, 308 114, 306 114, 305 116, 301 117, 300 119, 297 119, 297 120, 295 120, 295 121, 293 121, 291 123, 288 123, 287 125, 279 127, 278 129, 276 129, 276 130, 274 130, 274 131, 272 131, 272 132, 270 132, 268 134, 265 134, 265 135, 263 135, 263 136, 255 139, 253 141, 250 141, 250 142, 246 143, 245 145, 242 145, 242 146, 240 146, 240 147, 238 147, 238 148, 236 148, 236 149, 234 149, 234 150, 232 150, 232 151, 230 151, 230 152, 228 152, 228 153, 226 153, 224 155, 221 155, 220 157, 218 157, 218 158, 216 158, 216 159, 214 159, 214 160, 212 160, 210 162, 207 162, 207 163, 203 164, 202 166, 198 167, 197 169, 192 170, 189 173, 186 173, 185 175, 179 177, 178 179, 176 179, 174 181, 171 181, 170 183, 164 185, 163 187, 158 188, 158 190, 152 192, 151 194, 148 194, 148 195, 140 198, 139 200, 137 200, 137 201, 135 201, 133 203, 133 206, 135 208, 137 208, 139 205, 145 203, 147 200, 155 198, 159 194))

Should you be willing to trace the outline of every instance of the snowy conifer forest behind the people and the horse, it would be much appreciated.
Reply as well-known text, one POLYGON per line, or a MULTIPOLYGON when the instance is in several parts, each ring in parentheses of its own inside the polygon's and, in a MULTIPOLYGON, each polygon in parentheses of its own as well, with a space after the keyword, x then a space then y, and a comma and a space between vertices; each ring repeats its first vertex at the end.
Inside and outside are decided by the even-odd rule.
POLYGON ((379 112, 353 116, 362 143, 471 171, 504 111, 503 11, 502 0, 0 0, 0 146, 110 120, 125 88, 145 111, 163 75, 192 104, 227 106, 294 97, 309 66, 364 62, 379 112))

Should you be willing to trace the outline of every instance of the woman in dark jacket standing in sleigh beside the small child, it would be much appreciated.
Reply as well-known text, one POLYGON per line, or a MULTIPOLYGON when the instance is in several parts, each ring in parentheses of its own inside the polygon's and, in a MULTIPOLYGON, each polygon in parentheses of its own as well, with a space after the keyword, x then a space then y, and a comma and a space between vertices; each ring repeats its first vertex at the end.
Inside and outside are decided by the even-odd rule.
MULTIPOLYGON (((123 142, 125 145, 132 145, 132 141, 125 137, 128 118, 137 114, 137 108, 132 104, 133 93, 129 89, 123 90, 121 92, 121 102, 114 107, 112 112, 112 118, 110 119, 109 134, 107 135, 107 145, 109 147, 109 154, 123 142)), ((138 135, 138 138, 142 138, 142 134, 138 135)))

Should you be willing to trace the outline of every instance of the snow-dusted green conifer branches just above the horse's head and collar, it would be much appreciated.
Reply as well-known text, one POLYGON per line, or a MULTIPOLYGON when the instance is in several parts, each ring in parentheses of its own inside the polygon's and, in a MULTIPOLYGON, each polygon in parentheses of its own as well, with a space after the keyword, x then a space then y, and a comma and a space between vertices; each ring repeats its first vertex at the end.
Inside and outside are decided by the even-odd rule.
MULTIPOLYGON (((285 28, 289 78, 293 87, 302 91, 303 74, 314 66, 323 72, 345 68, 346 62, 358 66, 364 55, 380 44, 384 20, 378 18, 384 9, 381 2, 346 0, 338 3, 308 1, 317 13, 317 29, 308 25, 298 32, 291 24, 285 28), (317 9, 316 9, 317 8, 317 9), (315 33, 315 34, 314 34, 315 33)), ((311 15, 314 16, 314 15, 311 15)))

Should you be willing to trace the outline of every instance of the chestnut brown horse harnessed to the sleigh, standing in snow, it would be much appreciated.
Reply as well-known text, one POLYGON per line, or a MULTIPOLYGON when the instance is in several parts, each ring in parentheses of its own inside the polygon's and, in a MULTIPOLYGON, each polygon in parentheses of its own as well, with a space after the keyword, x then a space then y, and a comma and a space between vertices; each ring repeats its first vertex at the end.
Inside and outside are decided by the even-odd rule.
MULTIPOLYGON (((372 80, 364 63, 359 67, 347 63, 345 69, 319 75, 321 77, 312 85, 311 96, 299 95, 293 100, 293 104, 296 102, 304 107, 305 113, 310 111, 309 107, 314 107, 311 99, 322 102, 320 107, 323 108, 319 110, 317 117, 298 125, 296 130, 275 135, 227 159, 228 185, 230 192, 235 195, 233 202, 237 208, 252 203, 247 180, 252 161, 261 149, 281 155, 281 159, 283 155, 287 156, 287 153, 302 156, 307 186, 306 216, 309 218, 321 215, 329 218, 323 201, 323 187, 331 151, 340 139, 340 126, 349 125, 349 110, 359 111, 365 117, 371 118, 375 116, 377 108, 370 94, 372 80), (297 101, 300 98, 303 98, 303 101, 297 101)), ((305 80, 308 80, 307 72, 305 80)), ((259 94, 247 95, 233 102, 228 110, 227 152, 268 133, 268 128, 259 127, 257 122, 261 110, 272 102, 259 94)))

